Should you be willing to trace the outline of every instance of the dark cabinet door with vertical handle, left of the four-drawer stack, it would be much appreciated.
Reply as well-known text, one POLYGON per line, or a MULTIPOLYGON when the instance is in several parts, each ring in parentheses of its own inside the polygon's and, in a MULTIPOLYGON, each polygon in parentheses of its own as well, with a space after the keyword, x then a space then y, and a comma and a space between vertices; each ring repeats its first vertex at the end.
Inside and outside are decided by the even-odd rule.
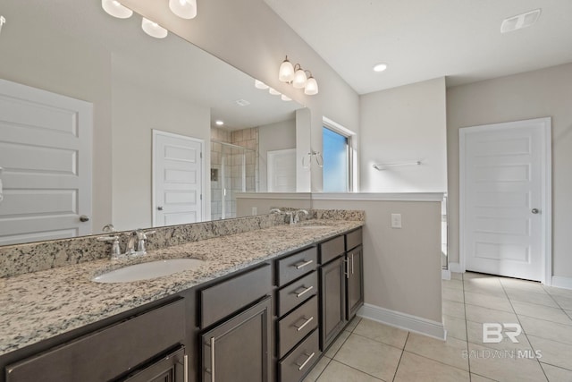
POLYGON ((201 336, 203 381, 270 380, 271 306, 267 297, 201 336))

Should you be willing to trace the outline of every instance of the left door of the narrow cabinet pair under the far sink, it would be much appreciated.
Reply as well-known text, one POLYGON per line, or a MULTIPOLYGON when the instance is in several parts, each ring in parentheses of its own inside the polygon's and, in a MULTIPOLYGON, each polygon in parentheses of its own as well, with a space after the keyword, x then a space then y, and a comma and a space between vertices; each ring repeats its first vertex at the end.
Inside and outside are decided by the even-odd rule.
POLYGON ((346 266, 344 256, 320 269, 322 289, 322 326, 320 344, 324 349, 332 343, 346 324, 346 266))

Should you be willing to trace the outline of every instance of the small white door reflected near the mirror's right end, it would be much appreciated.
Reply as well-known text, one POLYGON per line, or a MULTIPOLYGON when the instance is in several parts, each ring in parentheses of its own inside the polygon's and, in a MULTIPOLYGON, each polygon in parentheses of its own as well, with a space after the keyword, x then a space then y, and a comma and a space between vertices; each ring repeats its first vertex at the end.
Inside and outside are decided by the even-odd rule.
POLYGON ((296 192, 296 149, 268 151, 268 192, 296 192))

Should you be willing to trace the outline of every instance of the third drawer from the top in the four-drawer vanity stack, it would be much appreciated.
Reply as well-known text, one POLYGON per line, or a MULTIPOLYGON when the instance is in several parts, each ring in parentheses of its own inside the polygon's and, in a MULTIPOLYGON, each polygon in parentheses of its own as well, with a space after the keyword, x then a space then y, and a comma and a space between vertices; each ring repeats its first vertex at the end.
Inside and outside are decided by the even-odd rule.
POLYGON ((312 297, 297 310, 278 321, 278 358, 318 326, 318 298, 312 297))

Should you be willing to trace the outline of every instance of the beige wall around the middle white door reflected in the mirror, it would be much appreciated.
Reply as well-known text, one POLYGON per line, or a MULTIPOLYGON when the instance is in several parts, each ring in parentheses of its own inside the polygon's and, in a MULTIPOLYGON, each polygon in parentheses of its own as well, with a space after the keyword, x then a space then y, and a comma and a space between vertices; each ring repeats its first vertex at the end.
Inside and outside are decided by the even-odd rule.
MULTIPOLYGON (((204 140, 210 163, 210 109, 195 106, 146 83, 113 77, 113 223, 118 230, 150 227, 152 130, 204 140)), ((210 216, 210 169, 203 174, 204 216, 210 216)), ((110 220, 111 222, 112 220, 110 220)), ((98 229, 98 227, 94 227, 98 229)))

